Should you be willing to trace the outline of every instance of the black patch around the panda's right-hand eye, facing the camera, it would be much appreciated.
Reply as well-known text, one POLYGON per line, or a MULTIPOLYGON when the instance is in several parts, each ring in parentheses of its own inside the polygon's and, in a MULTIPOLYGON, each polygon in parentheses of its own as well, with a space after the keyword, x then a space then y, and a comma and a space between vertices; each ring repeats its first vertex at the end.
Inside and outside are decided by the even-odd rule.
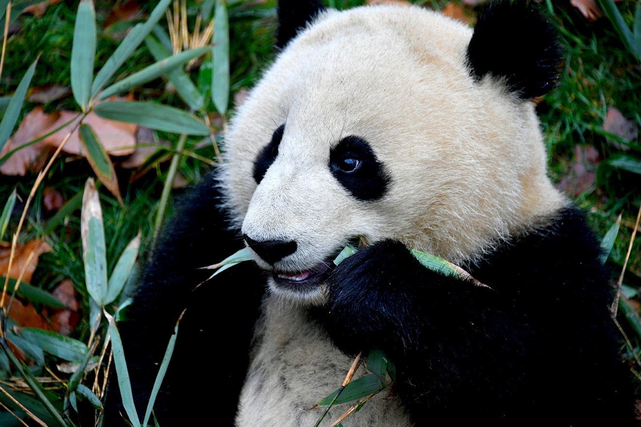
POLYGON ((365 202, 383 197, 391 181, 367 141, 358 136, 347 136, 331 149, 329 170, 347 191, 365 202))

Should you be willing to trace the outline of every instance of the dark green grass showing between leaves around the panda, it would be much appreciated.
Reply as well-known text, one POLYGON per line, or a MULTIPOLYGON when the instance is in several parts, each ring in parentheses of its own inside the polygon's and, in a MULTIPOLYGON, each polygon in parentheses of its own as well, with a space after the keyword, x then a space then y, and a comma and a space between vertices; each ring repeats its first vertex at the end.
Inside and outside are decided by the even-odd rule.
MULTIPOLYGON (((188 2, 189 10, 194 12, 190 17, 194 20, 197 5, 188 2)), ((335 1, 338 8, 347 8, 362 3, 359 0, 335 1)), ((418 1, 426 6, 443 6, 441 0, 418 1)), ((274 58, 274 30, 276 16, 275 0, 270 0, 260 8, 246 8, 244 3, 238 3, 229 9, 231 29, 231 92, 241 88, 251 87, 259 78, 260 72, 274 58)), ((113 2, 97 1, 96 15, 99 30, 96 63, 99 68, 113 52, 118 41, 104 34, 103 23, 113 2)), ((545 95, 537 106, 542 126, 547 138, 551 174, 554 181, 560 180, 568 168, 572 166, 575 145, 592 145, 599 151, 604 160, 624 154, 633 159, 641 159, 641 146, 636 141, 618 140, 629 150, 622 153, 608 141, 603 131, 603 121, 609 107, 615 106, 641 129, 641 67, 622 44, 607 19, 587 23, 575 8, 569 4, 548 3, 554 15, 553 19, 560 30, 560 40, 565 47, 565 65, 560 77, 559 86, 553 92, 545 95)), ((624 1, 619 4, 624 18, 631 24, 633 19, 634 1, 624 1)), ((147 12, 151 6, 144 6, 147 12)), ((0 95, 10 94, 18 85, 24 70, 42 52, 31 86, 70 85, 70 61, 74 17, 78 2, 62 2, 49 6, 43 17, 21 15, 17 19, 19 30, 10 36, 4 62, 2 79, 0 80, 0 95), (37 36, 35 36, 37 35, 37 36)), ((483 8, 479 6, 478 10, 483 8)), ((161 20, 164 22, 164 19, 161 20)), ((535 36, 535 35, 533 35, 535 36)), ((153 63, 153 58, 142 44, 134 52, 117 73, 117 79, 141 70, 153 63)), ((192 79, 196 80, 196 72, 192 79)), ((137 99, 154 99, 165 104, 186 108, 185 104, 174 92, 165 91, 165 81, 156 79, 135 90, 137 99)), ((231 104, 230 104, 231 105, 231 104)), ((35 104, 26 102, 22 115, 30 111, 35 104)), ((46 111, 54 109, 78 109, 73 97, 50 102, 45 106, 46 111)), ((208 110, 213 111, 209 101, 208 110)), ((233 113, 231 113, 233 114, 233 113)), ((174 145, 178 136, 158 133, 160 138, 170 140, 174 145)), ((186 150, 193 151, 199 156, 213 158, 211 146, 195 149, 201 138, 188 138, 186 150)), ((153 234, 153 224, 156 216, 158 200, 162 193, 163 183, 167 176, 169 163, 156 163, 141 179, 129 182, 133 171, 117 170, 119 175, 124 209, 104 188, 100 189, 103 205, 103 218, 107 241, 108 269, 113 268, 117 255, 121 254, 124 246, 142 231, 143 243, 141 253, 145 254, 151 245, 150 236, 153 234)), ((210 169, 206 163, 183 156, 179 161, 178 170, 189 182, 196 182, 203 173, 210 169)), ((46 230, 51 214, 42 207, 44 186, 56 189, 68 200, 84 188, 87 177, 93 176, 91 168, 85 159, 63 158, 56 159, 53 168, 48 173, 45 182, 38 189, 35 199, 28 211, 27 222, 21 234, 21 241, 38 238, 46 230)), ((2 177, 0 182, 0 205, 16 187, 22 202, 26 200, 35 175, 26 177, 2 177)), ((595 184, 594 189, 580 195, 578 204, 587 210, 588 218, 597 233, 603 236, 615 222, 619 214, 623 215, 619 237, 610 255, 610 264, 617 271, 622 266, 628 243, 631 237, 631 225, 641 204, 641 175, 624 170, 606 170, 603 180, 595 184)), ((176 197, 183 190, 173 191, 176 197)), ((21 212, 22 202, 17 204, 16 213, 21 212)), ((168 214, 171 213, 171 202, 168 214)), ((19 217, 14 216, 7 231, 11 236, 19 217)), ((79 233, 79 209, 67 216, 46 236, 54 248, 51 254, 40 258, 38 269, 32 284, 51 290, 63 278, 71 278, 74 286, 81 294, 81 305, 85 316, 81 325, 74 331, 74 337, 87 339, 89 326, 88 296, 84 285, 84 270, 81 259, 79 233)), ((637 238, 639 239, 639 238, 637 238)), ((144 262, 145 255, 140 258, 144 262)), ((638 243, 628 264, 624 283, 641 287, 641 251, 638 243)), ((624 319, 620 323, 628 332, 631 341, 639 351, 640 338, 629 330, 624 319)))

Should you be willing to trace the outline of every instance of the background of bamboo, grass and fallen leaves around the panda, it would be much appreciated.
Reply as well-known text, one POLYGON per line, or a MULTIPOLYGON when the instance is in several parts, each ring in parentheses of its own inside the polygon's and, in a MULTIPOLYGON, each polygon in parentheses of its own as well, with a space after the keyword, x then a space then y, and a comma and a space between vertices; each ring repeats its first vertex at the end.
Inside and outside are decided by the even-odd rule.
MULTIPOLYGON (((10 7, 0 24, 0 35, 4 33, 0 209, 6 206, 0 216, 0 240, 4 239, 0 289, 7 284, 0 304, 6 308, 12 301, 8 314, 0 316, 1 426, 38 425, 36 418, 43 424, 63 426, 95 421, 94 407, 99 408, 104 398, 104 377, 112 360, 106 337, 113 326, 109 328, 106 315, 100 316, 100 308, 104 306, 110 316, 126 316, 127 290, 135 284, 135 271, 144 265, 144 254, 163 217, 171 214, 171 200, 215 168, 218 150, 224 150, 222 133, 233 115, 227 104, 240 104, 260 70, 276 55, 275 3, 178 0, 151 31, 155 42, 147 39, 137 45, 114 70, 110 83, 126 82, 137 72, 146 76, 115 90, 113 95, 121 95, 115 101, 153 101, 191 113, 205 130, 190 134, 136 117, 129 124, 106 122, 96 114, 99 107, 79 95, 82 78, 78 68, 74 77, 72 64, 83 61, 77 55, 74 58, 74 43, 81 40, 74 40, 74 31, 81 31, 76 17, 82 5, 87 13, 83 16, 88 17, 91 4, 96 21, 95 59, 85 59, 93 76, 108 64, 135 25, 153 14, 157 2, 0 0, 2 10, 10 7), (219 14, 221 11, 226 14, 219 14), (212 42, 217 47, 210 47, 212 42), (198 45, 205 46, 203 54, 192 60, 181 60, 174 68, 161 67, 156 74, 148 71, 147 67, 164 56, 198 45), (229 60, 228 75, 218 66, 225 62, 221 52, 229 60), (212 61, 212 55, 219 56, 212 61), (28 90, 22 93, 19 85, 36 60, 33 77, 24 86, 28 90), (196 92, 189 95, 189 90, 196 92), (84 120, 94 136, 85 133, 63 144, 71 125, 52 131, 78 114, 87 115, 84 120), (10 115, 15 120, 9 120, 10 115), (61 145, 60 153, 54 154, 61 145), (51 165, 38 175, 47 161, 51 165), (113 296, 112 301, 107 301, 106 291, 96 296, 96 287, 88 284, 92 273, 87 270, 87 245, 99 245, 95 235, 87 238, 81 232, 81 210, 91 210, 88 197, 82 201, 89 177, 102 183, 96 194, 102 205, 106 270, 113 277, 124 268, 117 291, 124 287, 125 296, 113 296), (142 238, 137 239, 139 233, 142 238), (138 252, 142 255, 134 265, 138 252), (127 265, 119 267, 119 259, 127 265), (22 284, 15 286, 19 277, 22 284), (16 287, 15 298, 10 298, 16 287), (101 320, 94 326, 90 319, 96 316, 101 320), (79 364, 87 369, 79 369, 79 364), (83 371, 87 373, 74 375, 83 371)), ((326 3, 349 8, 363 1, 326 3)), ((413 3, 442 10, 472 26, 487 6, 478 0, 413 3)), ((641 212, 641 2, 545 0, 540 6, 547 8, 558 25, 565 48, 558 88, 536 100, 551 175, 588 212, 594 229, 604 236, 606 250, 612 246, 607 262, 615 273, 614 281, 624 272, 618 284, 621 298, 615 321, 625 342, 622 353, 631 369, 631 382, 639 387, 641 254, 638 243, 631 245, 631 241, 641 212), (608 230, 610 237, 605 237, 608 230)), ((90 27, 87 24, 82 31, 90 27)), ((97 200, 95 197, 94 207, 97 200)), ((83 220, 85 227, 89 227, 88 215, 83 220)), ((99 416, 97 421, 101 421, 99 416)))

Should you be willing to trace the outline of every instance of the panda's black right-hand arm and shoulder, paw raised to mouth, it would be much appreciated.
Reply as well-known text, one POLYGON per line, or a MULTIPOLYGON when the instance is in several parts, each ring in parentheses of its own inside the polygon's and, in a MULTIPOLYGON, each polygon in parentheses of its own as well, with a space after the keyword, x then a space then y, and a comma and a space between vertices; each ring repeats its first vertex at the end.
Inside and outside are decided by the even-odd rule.
POLYGON ((492 289, 382 241, 333 271, 326 328, 349 355, 388 354, 417 426, 630 425, 629 373, 598 255, 576 209, 469 268, 492 289))

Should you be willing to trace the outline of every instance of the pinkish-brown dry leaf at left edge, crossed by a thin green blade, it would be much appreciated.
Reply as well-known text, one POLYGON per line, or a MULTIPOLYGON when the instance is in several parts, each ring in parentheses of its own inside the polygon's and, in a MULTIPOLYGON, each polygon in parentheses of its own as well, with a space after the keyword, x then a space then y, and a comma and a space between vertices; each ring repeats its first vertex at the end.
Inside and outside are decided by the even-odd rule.
MULTIPOLYGON (((15 131, 15 134, 9 138, 0 151, 0 157, 44 134, 44 130, 54 124, 58 117, 60 115, 57 112, 51 114, 42 112, 42 107, 36 107, 29 111, 22 119, 18 130, 15 131)), ((24 176, 27 170, 38 172, 44 166, 49 150, 50 147, 44 141, 38 141, 35 144, 24 147, 24 149, 13 153, 4 162, 4 165, 0 167, 0 173, 3 175, 24 176)))

